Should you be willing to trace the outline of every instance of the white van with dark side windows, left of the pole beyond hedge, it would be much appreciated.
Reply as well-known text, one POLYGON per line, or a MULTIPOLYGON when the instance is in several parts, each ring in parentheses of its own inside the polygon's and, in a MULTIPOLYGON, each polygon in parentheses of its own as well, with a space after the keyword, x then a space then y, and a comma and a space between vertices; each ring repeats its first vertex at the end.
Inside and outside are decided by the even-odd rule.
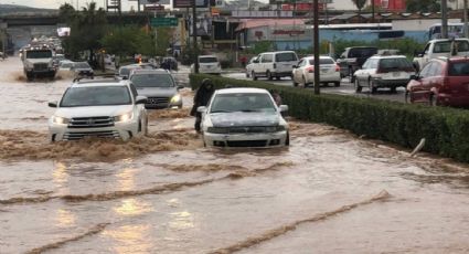
POLYGON ((298 56, 295 51, 277 51, 260 53, 257 60, 253 62, 251 76, 256 81, 259 76, 265 76, 269 81, 274 77, 291 77, 294 65, 298 63, 298 56))

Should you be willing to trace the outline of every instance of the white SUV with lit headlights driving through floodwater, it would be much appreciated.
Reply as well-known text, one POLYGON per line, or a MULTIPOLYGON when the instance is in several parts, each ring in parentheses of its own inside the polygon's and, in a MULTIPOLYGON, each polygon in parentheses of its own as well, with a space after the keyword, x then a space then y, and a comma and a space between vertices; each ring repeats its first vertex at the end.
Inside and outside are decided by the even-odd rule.
POLYGON ((60 102, 49 103, 55 113, 49 119, 51 141, 84 137, 128 140, 148 131, 147 97, 127 81, 100 80, 72 84, 60 102))

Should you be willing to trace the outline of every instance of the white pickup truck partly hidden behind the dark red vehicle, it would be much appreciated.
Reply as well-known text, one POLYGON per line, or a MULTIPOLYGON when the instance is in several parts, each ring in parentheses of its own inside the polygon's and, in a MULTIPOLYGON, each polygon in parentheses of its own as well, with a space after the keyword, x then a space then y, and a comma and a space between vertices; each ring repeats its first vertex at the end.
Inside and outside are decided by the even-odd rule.
POLYGON ((413 60, 415 70, 422 70, 430 60, 440 56, 468 56, 469 39, 436 39, 425 45, 423 52, 416 52, 413 60))

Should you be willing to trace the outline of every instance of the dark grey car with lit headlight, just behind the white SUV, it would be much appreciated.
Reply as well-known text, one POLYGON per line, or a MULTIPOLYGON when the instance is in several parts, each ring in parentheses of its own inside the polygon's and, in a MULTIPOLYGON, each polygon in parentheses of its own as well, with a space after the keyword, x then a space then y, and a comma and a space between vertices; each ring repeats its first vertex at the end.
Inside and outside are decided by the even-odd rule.
POLYGON ((130 82, 137 94, 146 96, 146 108, 182 108, 182 97, 171 73, 167 70, 134 70, 130 82))

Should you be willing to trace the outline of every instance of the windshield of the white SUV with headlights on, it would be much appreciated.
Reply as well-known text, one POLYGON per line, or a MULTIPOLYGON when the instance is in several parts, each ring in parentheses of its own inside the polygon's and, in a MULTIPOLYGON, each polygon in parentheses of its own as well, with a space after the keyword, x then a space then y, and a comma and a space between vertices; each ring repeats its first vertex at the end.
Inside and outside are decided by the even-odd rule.
POLYGON ((68 88, 61 107, 130 105, 129 89, 126 86, 92 86, 68 88))

